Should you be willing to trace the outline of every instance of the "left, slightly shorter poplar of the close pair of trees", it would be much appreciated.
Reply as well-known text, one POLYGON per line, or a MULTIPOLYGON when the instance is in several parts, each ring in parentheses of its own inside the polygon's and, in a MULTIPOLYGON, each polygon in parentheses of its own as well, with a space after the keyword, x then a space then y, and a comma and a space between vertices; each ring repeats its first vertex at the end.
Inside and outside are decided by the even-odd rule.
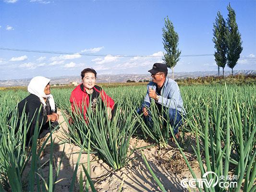
POLYGON ((219 67, 222 67, 222 76, 224 77, 224 68, 227 63, 227 42, 226 42, 227 27, 226 22, 220 12, 217 12, 217 17, 215 23, 213 24, 213 43, 216 51, 214 52, 214 57, 216 64, 218 65, 218 75, 219 67))

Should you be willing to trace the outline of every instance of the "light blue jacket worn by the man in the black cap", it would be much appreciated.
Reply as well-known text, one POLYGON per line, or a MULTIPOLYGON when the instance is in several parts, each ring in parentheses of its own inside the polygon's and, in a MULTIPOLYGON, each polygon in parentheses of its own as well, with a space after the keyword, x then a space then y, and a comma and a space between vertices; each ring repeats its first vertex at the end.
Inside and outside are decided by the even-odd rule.
MULTIPOLYGON (((149 89, 154 89, 156 91, 157 84, 153 82, 149 82, 147 84, 147 92, 145 99, 142 103, 142 107, 150 107, 151 101, 155 101, 154 99, 149 97, 149 89)), ((176 108, 178 111, 185 114, 185 110, 183 108, 183 100, 181 96, 181 92, 179 89, 178 84, 172 80, 166 78, 163 87, 161 89, 161 95, 157 103, 162 104, 164 107, 167 108, 176 108)))

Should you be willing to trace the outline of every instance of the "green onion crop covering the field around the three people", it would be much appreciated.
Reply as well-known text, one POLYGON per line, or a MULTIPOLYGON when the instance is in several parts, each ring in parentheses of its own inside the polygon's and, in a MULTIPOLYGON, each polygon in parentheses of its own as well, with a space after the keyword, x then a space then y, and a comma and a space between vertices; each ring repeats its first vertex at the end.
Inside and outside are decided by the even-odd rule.
MULTIPOLYGON (((83 151, 97 152, 98 157, 113 170, 126 166, 131 160, 128 146, 133 137, 142 138, 160 148, 170 144, 171 126, 167 123, 167 127, 162 127, 164 120, 154 115, 154 106, 150 109, 153 111, 154 120, 152 129, 148 129, 141 117, 134 112, 146 94, 146 85, 114 87, 103 85, 103 88, 116 103, 118 113, 115 119, 108 120, 104 108, 98 108, 99 112, 96 115, 89 112, 89 123, 81 120, 79 115, 73 117, 77 121, 68 126, 69 133, 66 134, 70 142, 80 146, 83 151)), ((73 87, 51 89, 57 108, 66 114, 67 124, 71 114, 69 97, 72 90, 73 87)), ((237 188, 225 189, 216 185, 204 190, 255 191, 255 84, 180 85, 180 90, 187 114, 180 128, 181 137, 175 141, 177 148, 183 154, 192 144, 192 139, 185 138, 186 133, 190 132, 195 136, 194 155, 202 175, 206 171, 213 171, 218 177, 230 174, 238 176, 237 188)), ((1 189, 54 191, 55 178, 52 175, 48 175, 47 178, 50 179, 44 182, 38 174, 35 174, 40 171, 38 160, 40 149, 37 149, 36 137, 31 149, 27 150, 23 145, 24 133, 14 134, 12 128, 16 121, 14 116, 11 128, 7 126, 7 116, 27 95, 28 92, 23 89, 0 91, 0 191, 1 189), (30 180, 26 183, 22 178, 28 162, 32 167, 29 173, 30 180), (38 188, 34 188, 35 186, 38 188)), ((41 150, 43 147, 41 146, 41 150)), ((186 160, 184 154, 183 157, 186 160)), ((51 160, 49 158, 49 162, 51 160)), ((191 172, 193 174, 192 169, 191 172)), ((41 177, 45 176, 41 175, 41 177)))

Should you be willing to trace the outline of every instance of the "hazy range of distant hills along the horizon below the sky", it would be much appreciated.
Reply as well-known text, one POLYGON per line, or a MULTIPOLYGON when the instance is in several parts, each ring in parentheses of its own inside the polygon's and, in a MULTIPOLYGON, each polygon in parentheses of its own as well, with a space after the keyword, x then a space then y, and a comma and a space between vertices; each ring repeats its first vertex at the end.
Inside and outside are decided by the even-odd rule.
MULTIPOLYGON (((240 70, 233 71, 233 75, 244 74, 244 75, 256 75, 256 70, 240 70)), ((205 76, 217 76, 217 71, 208 72, 175 72, 174 79, 185 79, 185 78, 196 78, 205 76)), ((231 75, 231 71, 226 71, 225 76, 231 75)), ((171 74, 168 74, 171 77, 171 74)), ((70 84, 71 82, 81 82, 80 76, 60 76, 60 77, 50 77, 50 84, 70 84)), ((124 83, 127 80, 134 80, 135 82, 151 80, 150 74, 102 74, 97 75, 97 83, 124 83)), ((13 80, 0 80, 0 86, 27 86, 31 78, 27 79, 13 79, 13 80)))

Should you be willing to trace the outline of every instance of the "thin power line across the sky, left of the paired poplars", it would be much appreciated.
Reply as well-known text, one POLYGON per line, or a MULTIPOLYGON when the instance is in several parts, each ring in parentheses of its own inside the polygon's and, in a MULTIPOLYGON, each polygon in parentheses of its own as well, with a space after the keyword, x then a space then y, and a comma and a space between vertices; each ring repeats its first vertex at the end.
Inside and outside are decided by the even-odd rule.
MULTIPOLYGON (((46 51, 46 50, 33 50, 33 49, 18 49, 18 48, 0 48, 0 50, 6 51, 20 51, 20 52, 33 52, 33 53, 49 53, 49 54, 65 54, 65 55, 84 55, 84 56, 98 56, 98 57, 148 57, 148 58, 159 58, 159 55, 122 55, 122 54, 97 54, 97 53, 77 53, 67 51, 46 51)), ((213 54, 195 54, 195 55, 181 55, 181 57, 202 57, 202 56, 213 56, 213 54)))

